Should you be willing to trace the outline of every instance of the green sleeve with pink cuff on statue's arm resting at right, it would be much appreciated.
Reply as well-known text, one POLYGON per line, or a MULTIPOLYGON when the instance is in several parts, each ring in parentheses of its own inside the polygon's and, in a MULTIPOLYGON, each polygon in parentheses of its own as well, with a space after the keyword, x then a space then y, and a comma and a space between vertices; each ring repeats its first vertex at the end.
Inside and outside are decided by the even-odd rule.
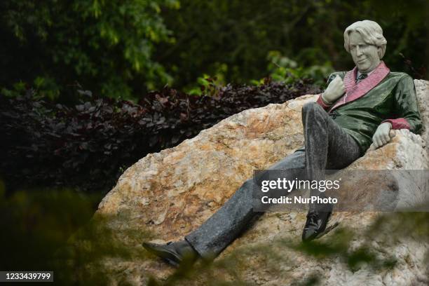
POLYGON ((392 125, 392 129, 409 129, 411 132, 421 131, 421 116, 418 112, 416 90, 411 76, 405 75, 395 88, 395 109, 398 118, 383 121, 392 125))

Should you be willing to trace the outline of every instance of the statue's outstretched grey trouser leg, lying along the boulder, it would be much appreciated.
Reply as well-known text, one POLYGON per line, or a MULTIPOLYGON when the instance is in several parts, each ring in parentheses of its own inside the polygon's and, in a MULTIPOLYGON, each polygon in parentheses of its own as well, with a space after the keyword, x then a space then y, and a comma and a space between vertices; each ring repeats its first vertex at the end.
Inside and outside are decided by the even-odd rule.
MULTIPOLYGON (((298 170, 304 169, 304 163, 305 154, 301 150, 286 156, 269 169, 292 169, 287 175, 294 179, 298 170)), ((254 212, 252 206, 252 192, 255 187, 257 186, 253 179, 248 179, 217 212, 185 237, 200 256, 217 256, 238 237, 252 218, 261 214, 254 212)))

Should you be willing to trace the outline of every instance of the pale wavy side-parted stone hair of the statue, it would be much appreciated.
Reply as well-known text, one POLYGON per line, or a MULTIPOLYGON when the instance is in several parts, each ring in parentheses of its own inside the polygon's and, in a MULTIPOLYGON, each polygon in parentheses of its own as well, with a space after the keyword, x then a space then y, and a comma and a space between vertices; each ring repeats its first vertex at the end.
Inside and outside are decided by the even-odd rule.
POLYGON ((387 41, 383 36, 383 29, 381 29, 379 24, 371 20, 363 20, 354 22, 348 26, 344 31, 344 48, 346 48, 348 53, 350 53, 349 36, 351 32, 358 32, 365 43, 381 48, 379 49, 379 57, 380 59, 383 57, 386 52, 387 41))

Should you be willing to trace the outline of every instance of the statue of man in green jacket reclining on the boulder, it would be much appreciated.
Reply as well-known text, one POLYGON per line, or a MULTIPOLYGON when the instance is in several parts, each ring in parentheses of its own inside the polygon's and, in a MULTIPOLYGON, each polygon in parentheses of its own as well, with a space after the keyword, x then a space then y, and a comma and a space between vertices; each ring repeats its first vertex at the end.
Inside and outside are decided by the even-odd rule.
MULTIPOLYGON (((304 170, 307 179, 322 180, 325 170, 338 170, 363 156, 371 144, 390 141, 390 129, 421 130, 414 82, 402 72, 390 72, 381 61, 386 51, 381 27, 373 21, 355 22, 344 32, 344 48, 355 68, 329 76, 316 102, 302 109, 305 147, 275 163, 270 170, 304 170)), ((296 174, 290 171, 290 178, 296 174)), ((143 243, 150 252, 178 265, 184 257, 213 257, 228 246, 259 214, 253 211, 252 179, 184 240, 166 245, 143 243)), ((304 241, 325 231, 332 205, 312 205, 302 233, 304 241)))

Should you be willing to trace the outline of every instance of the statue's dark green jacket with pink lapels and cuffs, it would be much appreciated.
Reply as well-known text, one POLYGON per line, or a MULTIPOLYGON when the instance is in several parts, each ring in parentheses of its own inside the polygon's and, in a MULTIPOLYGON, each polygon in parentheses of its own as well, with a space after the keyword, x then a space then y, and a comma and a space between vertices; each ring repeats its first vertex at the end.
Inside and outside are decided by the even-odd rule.
POLYGON ((355 83, 357 69, 335 72, 341 76, 346 94, 327 106, 318 98, 329 116, 359 144, 361 154, 372 144, 372 136, 383 122, 392 123, 392 129, 409 129, 418 133, 422 128, 418 112, 414 81, 403 72, 390 72, 381 62, 367 79, 355 83))

